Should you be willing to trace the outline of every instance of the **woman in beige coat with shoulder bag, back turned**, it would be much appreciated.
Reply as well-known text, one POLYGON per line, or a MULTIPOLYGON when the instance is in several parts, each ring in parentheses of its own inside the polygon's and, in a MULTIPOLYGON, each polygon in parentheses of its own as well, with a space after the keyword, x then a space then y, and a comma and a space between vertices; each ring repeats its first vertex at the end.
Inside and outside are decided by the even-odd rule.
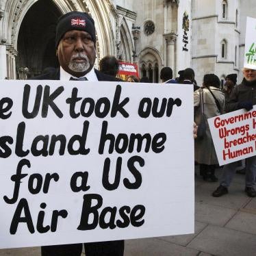
MULTIPOLYGON (((220 79, 214 74, 203 77, 203 87, 194 92, 195 123, 201 121, 201 100, 203 99, 203 112, 206 119, 224 113, 225 95, 221 92, 220 79), (215 97, 215 99, 214 99, 215 97)), ((215 176, 215 166, 218 159, 214 143, 206 120, 206 131, 203 138, 195 140, 195 160, 200 164, 200 175, 205 181, 218 181, 215 176)))

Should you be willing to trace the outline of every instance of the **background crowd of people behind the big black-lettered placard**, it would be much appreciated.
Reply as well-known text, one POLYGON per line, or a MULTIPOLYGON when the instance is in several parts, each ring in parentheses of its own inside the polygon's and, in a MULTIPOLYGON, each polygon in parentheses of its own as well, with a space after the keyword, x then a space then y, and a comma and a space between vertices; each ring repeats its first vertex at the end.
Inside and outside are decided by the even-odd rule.
MULTIPOLYGON (((101 60, 112 58, 114 56, 107 56, 101 60)), ((102 63, 100 62, 100 68, 102 63)), ((115 66, 107 65, 108 68, 116 70, 118 60, 115 59, 115 66)), ((101 68, 104 73, 105 69, 101 68)), ((110 71, 107 71, 110 74, 110 71)), ((185 68, 179 71, 179 77, 173 78, 172 68, 166 66, 160 72, 160 79, 164 84, 191 84, 194 88, 194 122, 196 125, 201 123, 201 119, 212 118, 220 114, 232 112, 235 110, 245 109, 251 110, 256 103, 255 88, 256 88, 256 70, 244 68, 244 78, 242 83, 237 85, 237 74, 229 74, 225 77, 225 84, 221 86, 220 79, 217 75, 206 74, 203 77, 203 84, 198 86, 195 80, 195 74, 192 68, 185 68), (203 116, 203 117, 202 117, 203 116)), ((117 73, 113 74, 117 75, 117 73)), ((128 82, 144 82, 149 83, 148 77, 136 77, 129 75, 128 82)), ((218 166, 218 159, 214 149, 214 143, 209 125, 205 122, 205 135, 202 138, 195 140, 195 163, 199 164, 200 175, 204 181, 216 182, 218 178, 215 175, 218 166)), ((212 193, 212 196, 218 197, 228 193, 228 187, 231 183, 233 175, 240 165, 240 162, 227 164, 223 167, 222 177, 220 178, 220 185, 212 193)), ((245 168, 245 192, 248 196, 255 197, 255 175, 256 175, 256 157, 249 157, 246 159, 245 168)))

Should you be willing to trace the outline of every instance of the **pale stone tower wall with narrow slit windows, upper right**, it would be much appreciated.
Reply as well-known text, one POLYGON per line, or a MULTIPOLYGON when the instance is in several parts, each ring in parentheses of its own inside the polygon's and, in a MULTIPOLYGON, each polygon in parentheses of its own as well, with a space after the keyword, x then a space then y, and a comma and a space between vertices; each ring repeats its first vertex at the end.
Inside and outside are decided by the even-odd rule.
POLYGON ((240 10, 240 1, 229 0, 227 3, 227 15, 223 18, 221 0, 193 1, 192 66, 200 83, 205 73, 215 73, 218 77, 239 73, 240 31, 236 24, 236 10, 240 10), (223 40, 227 42, 225 57, 221 54, 223 40))

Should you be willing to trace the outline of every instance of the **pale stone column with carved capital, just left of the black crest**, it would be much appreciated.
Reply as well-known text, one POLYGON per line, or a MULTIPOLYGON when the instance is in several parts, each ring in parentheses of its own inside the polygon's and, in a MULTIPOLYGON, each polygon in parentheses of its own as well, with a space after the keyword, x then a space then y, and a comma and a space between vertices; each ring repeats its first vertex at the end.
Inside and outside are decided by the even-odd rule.
POLYGON ((176 42, 177 34, 169 33, 164 35, 166 40, 166 66, 170 66, 173 71, 173 75, 176 74, 176 42))

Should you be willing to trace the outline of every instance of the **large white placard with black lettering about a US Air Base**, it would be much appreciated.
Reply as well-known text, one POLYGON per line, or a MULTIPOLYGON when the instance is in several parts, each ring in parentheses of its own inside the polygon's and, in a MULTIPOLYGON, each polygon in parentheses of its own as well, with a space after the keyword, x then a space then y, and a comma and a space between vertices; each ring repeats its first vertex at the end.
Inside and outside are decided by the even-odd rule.
POLYGON ((0 83, 0 248, 194 232, 192 86, 0 83))

